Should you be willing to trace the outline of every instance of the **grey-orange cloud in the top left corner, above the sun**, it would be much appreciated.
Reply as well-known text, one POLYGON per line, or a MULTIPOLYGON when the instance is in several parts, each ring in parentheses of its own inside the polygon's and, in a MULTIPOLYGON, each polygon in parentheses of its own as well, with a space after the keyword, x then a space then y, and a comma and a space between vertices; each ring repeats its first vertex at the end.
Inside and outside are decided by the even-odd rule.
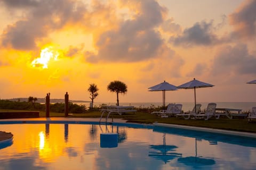
POLYGON ((85 5, 68 0, 63 1, 4 1, 9 10, 20 6, 33 6, 26 10, 26 19, 9 25, 2 35, 2 45, 19 50, 29 50, 36 46, 36 41, 45 38, 51 31, 66 24, 76 23, 86 12, 85 5), (20 5, 19 5, 20 4, 20 5), (21 5, 22 4, 22 5, 21 5))

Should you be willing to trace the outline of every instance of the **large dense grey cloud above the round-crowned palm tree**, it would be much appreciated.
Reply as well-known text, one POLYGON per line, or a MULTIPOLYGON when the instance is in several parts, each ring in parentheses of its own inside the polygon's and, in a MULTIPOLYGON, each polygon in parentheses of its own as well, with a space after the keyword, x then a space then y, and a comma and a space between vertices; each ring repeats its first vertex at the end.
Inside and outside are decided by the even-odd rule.
POLYGON ((97 56, 106 61, 141 61, 154 57, 162 43, 159 33, 152 29, 137 33, 109 31, 97 42, 97 56))

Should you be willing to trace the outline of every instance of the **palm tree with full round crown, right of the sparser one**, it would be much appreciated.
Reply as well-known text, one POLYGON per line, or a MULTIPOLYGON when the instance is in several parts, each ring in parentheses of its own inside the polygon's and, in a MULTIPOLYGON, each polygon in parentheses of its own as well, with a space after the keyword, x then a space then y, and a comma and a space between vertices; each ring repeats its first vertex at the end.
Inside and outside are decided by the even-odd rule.
POLYGON ((125 94, 127 92, 127 86, 125 83, 121 81, 111 81, 108 84, 107 87, 108 91, 110 92, 116 92, 116 101, 117 101, 117 106, 119 106, 119 99, 118 99, 118 94, 125 94))

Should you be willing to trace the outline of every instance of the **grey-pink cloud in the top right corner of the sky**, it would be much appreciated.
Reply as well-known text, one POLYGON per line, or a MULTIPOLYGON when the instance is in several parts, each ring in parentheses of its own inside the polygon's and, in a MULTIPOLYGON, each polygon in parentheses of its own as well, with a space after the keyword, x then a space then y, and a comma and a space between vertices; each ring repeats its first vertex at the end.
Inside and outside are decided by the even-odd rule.
POLYGON ((230 24, 235 27, 234 35, 242 38, 254 38, 256 35, 256 1, 248 0, 236 12, 230 14, 230 24))

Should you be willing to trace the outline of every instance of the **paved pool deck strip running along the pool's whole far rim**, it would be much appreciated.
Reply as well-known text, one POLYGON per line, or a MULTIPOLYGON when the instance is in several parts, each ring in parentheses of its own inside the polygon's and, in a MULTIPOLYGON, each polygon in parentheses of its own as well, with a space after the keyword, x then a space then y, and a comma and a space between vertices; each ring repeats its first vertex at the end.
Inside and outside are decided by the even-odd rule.
MULTIPOLYGON (((0 124, 12 124, 12 123, 99 123, 99 118, 75 118, 75 117, 39 117, 39 118, 12 118, 12 119, 1 119, 0 124)), ((102 122, 103 124, 104 122, 102 122)), ((126 123, 126 120, 114 118, 113 122, 109 121, 108 123, 126 123)), ((214 132, 222 134, 231 134, 239 135, 242 137, 256 138, 256 133, 249 132, 238 132, 238 131, 228 131, 220 129, 211 129, 211 128, 199 128, 194 126, 184 126, 184 125, 175 125, 175 124, 164 124, 164 123, 153 123, 154 126, 163 126, 169 128, 180 128, 180 129, 189 129, 197 130, 204 132, 214 132)), ((11 133, 0 133, 0 141, 10 138, 11 133)), ((12 135, 12 134, 11 134, 12 135)), ((12 138, 12 137, 11 137, 12 138)))

